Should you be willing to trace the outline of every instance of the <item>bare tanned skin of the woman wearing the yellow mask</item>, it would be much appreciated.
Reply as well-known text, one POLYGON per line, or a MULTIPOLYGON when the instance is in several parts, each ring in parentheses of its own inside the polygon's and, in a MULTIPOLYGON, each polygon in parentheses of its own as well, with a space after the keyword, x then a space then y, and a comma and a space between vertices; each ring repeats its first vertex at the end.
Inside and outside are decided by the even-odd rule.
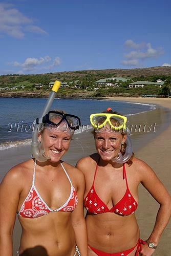
MULTIPOLYGON (((117 156, 120 143, 125 139, 123 135, 114 132, 111 134, 99 132, 95 135, 98 153, 82 158, 77 163, 77 167, 82 171, 86 180, 84 198, 93 184, 96 165, 99 161, 94 183, 98 197, 109 209, 122 199, 126 191, 126 182, 122 176, 123 165, 112 159, 117 156)), ((125 164, 125 168, 129 189, 136 202, 138 203, 138 185, 142 183, 160 204, 154 230, 149 236, 149 241, 157 245, 170 217, 170 197, 154 171, 143 161, 134 157, 132 165, 125 164)), ((106 253, 116 253, 133 248, 140 238, 135 214, 122 217, 112 212, 98 215, 87 213, 86 224, 88 245, 106 253)), ((136 249, 129 256, 135 255, 136 249)), ((151 256, 154 251, 145 244, 142 245, 141 255, 151 256)), ((96 254, 89 248, 89 255, 96 254)))

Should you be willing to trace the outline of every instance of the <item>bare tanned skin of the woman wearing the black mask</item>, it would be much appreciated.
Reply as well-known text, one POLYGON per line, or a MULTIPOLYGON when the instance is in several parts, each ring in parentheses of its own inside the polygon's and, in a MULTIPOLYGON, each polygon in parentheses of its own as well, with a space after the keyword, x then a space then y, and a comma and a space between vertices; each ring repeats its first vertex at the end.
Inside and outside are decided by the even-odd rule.
MULTIPOLYGON (((51 159, 44 163, 37 161, 35 187, 47 205, 51 209, 57 209, 67 201, 71 191, 71 184, 59 161, 69 148, 71 136, 63 132, 48 133, 49 131, 45 130, 44 144, 51 159)), ((84 177, 77 168, 64 162, 63 166, 77 192, 78 204, 72 212, 50 212, 35 219, 18 217, 23 229, 20 255, 27 252, 30 256, 73 256, 75 244, 81 256, 88 255, 82 207, 84 177)), ((16 212, 19 211, 32 186, 33 169, 33 159, 16 165, 7 173, 0 186, 0 255, 13 255, 12 232, 16 212)))

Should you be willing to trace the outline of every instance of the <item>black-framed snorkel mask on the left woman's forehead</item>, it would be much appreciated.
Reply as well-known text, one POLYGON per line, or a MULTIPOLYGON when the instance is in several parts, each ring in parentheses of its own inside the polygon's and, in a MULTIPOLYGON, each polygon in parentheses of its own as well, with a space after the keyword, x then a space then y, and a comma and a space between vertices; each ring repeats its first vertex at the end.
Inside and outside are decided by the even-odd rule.
POLYGON ((64 114, 58 111, 50 111, 42 118, 42 122, 54 126, 58 126, 62 121, 66 121, 69 128, 72 130, 78 130, 81 125, 79 117, 70 114, 64 114))

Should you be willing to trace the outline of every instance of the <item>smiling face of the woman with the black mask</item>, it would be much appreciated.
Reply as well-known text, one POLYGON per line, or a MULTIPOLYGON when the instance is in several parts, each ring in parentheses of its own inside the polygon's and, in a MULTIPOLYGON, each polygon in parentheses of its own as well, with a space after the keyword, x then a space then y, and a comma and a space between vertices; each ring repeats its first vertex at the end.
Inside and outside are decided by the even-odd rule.
POLYGON ((69 149, 73 133, 66 129, 66 122, 61 122, 58 127, 49 126, 38 136, 48 161, 56 163, 69 149))

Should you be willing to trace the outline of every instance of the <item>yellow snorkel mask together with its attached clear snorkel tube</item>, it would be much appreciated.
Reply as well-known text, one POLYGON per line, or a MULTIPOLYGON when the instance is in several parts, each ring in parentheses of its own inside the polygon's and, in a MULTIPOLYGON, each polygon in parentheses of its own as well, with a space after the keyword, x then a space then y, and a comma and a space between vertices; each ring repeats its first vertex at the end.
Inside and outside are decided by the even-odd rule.
MULTIPOLYGON (((108 108, 107 111, 112 110, 111 108, 108 108)), ((96 129, 96 131, 104 129, 105 125, 108 123, 111 131, 113 132, 123 132, 126 134, 126 121, 127 117, 121 116, 118 114, 113 113, 98 113, 98 114, 91 114, 90 115, 90 122, 93 126, 93 128, 96 129)), ((133 153, 132 150, 132 143, 127 135, 126 137, 126 149, 125 154, 122 156, 121 153, 119 153, 119 156, 114 158, 113 160, 117 163, 125 163, 127 162, 133 153)))

